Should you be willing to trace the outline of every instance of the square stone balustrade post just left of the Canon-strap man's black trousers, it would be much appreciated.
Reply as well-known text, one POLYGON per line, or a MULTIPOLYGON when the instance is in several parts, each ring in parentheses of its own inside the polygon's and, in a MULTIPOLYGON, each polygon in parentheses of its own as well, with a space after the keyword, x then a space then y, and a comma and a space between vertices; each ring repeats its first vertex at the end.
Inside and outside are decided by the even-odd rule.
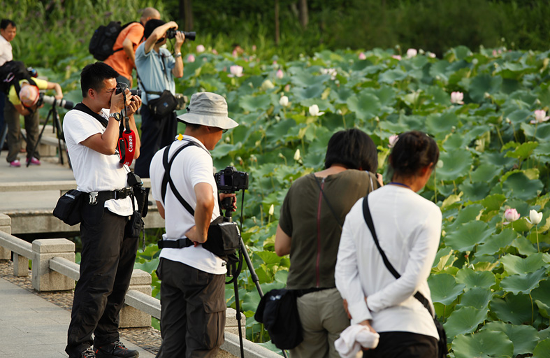
POLYGON ((75 244, 66 238, 45 238, 32 243, 32 287, 36 291, 64 291, 75 288, 75 280, 50 268, 50 259, 63 257, 75 262, 75 244))

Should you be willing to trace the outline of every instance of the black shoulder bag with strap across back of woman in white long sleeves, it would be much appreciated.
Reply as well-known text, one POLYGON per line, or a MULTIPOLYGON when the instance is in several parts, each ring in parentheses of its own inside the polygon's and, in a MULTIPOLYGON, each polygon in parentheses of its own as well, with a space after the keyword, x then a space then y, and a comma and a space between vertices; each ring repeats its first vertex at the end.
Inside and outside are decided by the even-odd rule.
MULTIPOLYGON (((367 223, 368 229, 370 230, 370 234, 372 234, 372 238, 375 241, 376 248, 380 252, 380 255, 382 255, 382 260, 384 261, 384 265, 386 265, 386 268, 391 272, 393 277, 400 278, 401 275, 396 271, 396 268, 393 267, 391 262, 389 262, 388 257, 386 257, 386 253, 382 248, 380 247, 380 243, 378 242, 378 237, 376 236, 375 231, 375 224, 372 222, 372 216, 370 215, 370 209, 368 208, 368 196, 365 196, 363 198, 363 217, 365 217, 365 222, 367 223)), ((426 310, 430 313, 430 315, 433 317, 433 322, 435 324, 435 328, 437 329, 437 334, 439 334, 440 339, 437 341, 437 357, 444 358, 447 357, 447 353, 449 353, 449 350, 447 350, 447 334, 445 333, 445 329, 443 328, 443 325, 439 320, 437 320, 437 315, 432 310, 432 307, 430 306, 430 301, 424 297, 423 294, 420 292, 416 292, 414 294, 414 298, 419 300, 420 303, 424 307, 426 307, 426 310)))

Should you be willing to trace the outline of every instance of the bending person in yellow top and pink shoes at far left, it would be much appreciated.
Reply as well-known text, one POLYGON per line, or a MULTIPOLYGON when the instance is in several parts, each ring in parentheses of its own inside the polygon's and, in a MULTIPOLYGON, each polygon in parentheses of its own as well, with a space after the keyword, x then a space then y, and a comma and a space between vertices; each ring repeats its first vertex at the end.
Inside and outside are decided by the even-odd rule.
POLYGON ((38 99, 40 93, 38 90, 55 90, 55 99, 63 98, 63 91, 59 83, 48 82, 39 78, 29 80, 20 80, 20 91, 17 93, 15 85, 10 87, 8 92, 8 101, 4 115, 8 124, 8 157, 6 161, 10 166, 21 166, 17 155, 21 150, 21 124, 19 115, 24 115, 25 129, 27 130, 27 162, 34 165, 40 165, 40 154, 34 150, 38 145, 38 99), (15 108, 15 110, 13 110, 15 108), (34 152, 34 157, 29 157, 34 152))

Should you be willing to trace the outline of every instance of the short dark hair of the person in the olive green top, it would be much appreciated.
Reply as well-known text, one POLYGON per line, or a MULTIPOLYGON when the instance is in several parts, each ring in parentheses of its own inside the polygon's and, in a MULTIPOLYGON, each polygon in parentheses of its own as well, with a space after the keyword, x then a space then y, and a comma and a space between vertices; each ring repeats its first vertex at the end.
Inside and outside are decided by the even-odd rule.
POLYGON ((378 169, 376 145, 361 129, 338 131, 328 141, 326 148, 325 168, 333 164, 375 173, 378 169))

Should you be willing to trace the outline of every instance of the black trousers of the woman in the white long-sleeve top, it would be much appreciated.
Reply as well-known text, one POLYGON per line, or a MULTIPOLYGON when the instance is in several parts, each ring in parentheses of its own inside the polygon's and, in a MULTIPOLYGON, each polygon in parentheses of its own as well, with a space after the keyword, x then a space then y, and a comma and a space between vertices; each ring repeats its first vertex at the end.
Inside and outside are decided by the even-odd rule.
POLYGON ((374 350, 363 358, 437 358, 437 339, 410 332, 382 332, 374 350))

